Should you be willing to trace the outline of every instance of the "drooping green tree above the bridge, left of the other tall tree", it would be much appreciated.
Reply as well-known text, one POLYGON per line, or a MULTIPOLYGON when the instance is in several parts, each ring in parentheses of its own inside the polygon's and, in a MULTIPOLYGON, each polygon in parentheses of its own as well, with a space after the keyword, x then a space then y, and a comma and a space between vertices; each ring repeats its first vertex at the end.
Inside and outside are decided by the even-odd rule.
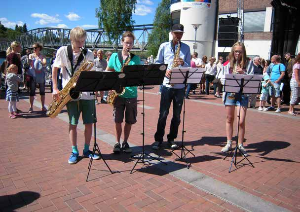
POLYGON ((104 28, 110 42, 117 44, 124 31, 132 31, 134 21, 132 12, 135 11, 137 0, 100 0, 96 8, 96 18, 100 28, 104 28))

